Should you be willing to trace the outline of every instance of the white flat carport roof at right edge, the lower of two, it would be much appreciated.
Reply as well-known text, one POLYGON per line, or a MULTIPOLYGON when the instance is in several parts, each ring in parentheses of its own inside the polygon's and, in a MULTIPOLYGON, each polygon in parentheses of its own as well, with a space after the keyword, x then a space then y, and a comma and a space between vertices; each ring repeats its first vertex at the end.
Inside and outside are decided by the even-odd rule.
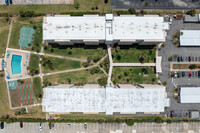
POLYGON ((181 87, 181 103, 200 103, 200 87, 181 87))

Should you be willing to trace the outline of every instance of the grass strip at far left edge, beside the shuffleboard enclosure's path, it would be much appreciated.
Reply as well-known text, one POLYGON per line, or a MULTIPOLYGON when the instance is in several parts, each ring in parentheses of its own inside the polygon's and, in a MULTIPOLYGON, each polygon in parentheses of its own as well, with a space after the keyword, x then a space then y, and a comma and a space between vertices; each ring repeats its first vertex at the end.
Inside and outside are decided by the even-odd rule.
MULTIPOLYGON (((0 75, 4 74, 4 72, 0 72, 0 75)), ((8 101, 8 93, 6 88, 6 81, 4 77, 0 77, 0 117, 6 115, 10 112, 9 101, 8 101)))

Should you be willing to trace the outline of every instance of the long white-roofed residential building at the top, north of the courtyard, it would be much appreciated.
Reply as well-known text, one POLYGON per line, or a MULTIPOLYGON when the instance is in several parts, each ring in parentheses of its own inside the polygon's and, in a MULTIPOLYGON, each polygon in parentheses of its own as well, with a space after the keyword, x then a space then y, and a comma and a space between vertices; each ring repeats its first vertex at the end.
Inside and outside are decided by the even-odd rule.
POLYGON ((168 29, 168 22, 157 15, 58 15, 44 17, 43 40, 61 45, 153 45, 165 41, 168 29))

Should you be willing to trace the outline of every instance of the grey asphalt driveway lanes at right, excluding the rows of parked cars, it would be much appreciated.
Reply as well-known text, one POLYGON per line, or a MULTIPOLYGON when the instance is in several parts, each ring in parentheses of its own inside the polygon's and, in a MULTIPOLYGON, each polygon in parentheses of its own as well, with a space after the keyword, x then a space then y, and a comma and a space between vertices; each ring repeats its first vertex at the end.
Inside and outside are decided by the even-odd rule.
POLYGON ((173 45, 173 33, 176 30, 200 30, 200 24, 197 23, 183 23, 182 20, 174 20, 167 32, 167 40, 165 47, 159 51, 162 56, 162 74, 159 74, 162 82, 167 82, 167 95, 170 98, 171 105, 165 113, 169 114, 171 110, 179 113, 180 116, 183 112, 189 110, 200 110, 200 104, 181 104, 174 100, 174 87, 175 86, 200 86, 200 79, 198 78, 171 78, 170 77, 170 64, 168 58, 170 55, 177 54, 178 56, 200 56, 200 47, 176 47, 173 45))

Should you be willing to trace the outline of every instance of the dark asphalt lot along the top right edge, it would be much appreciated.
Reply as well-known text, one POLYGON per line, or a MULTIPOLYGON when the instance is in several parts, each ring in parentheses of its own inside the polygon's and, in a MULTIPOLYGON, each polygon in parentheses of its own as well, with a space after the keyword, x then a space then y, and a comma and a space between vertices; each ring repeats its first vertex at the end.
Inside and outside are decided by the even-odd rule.
POLYGON ((200 8, 199 0, 111 0, 112 9, 191 9, 200 8), (148 5, 146 5, 148 2, 148 5))

